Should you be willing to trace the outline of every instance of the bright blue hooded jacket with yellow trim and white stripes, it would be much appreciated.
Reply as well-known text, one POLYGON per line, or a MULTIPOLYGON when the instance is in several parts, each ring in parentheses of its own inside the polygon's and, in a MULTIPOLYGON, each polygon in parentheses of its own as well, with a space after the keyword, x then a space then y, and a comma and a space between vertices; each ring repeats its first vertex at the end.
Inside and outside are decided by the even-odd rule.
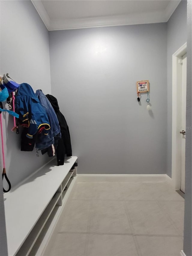
POLYGON ((44 135, 49 134, 48 116, 32 87, 27 83, 20 84, 16 93, 15 112, 19 114, 19 119, 22 122, 28 122, 29 128, 26 134, 28 138, 33 138, 33 135, 41 129, 41 133, 44 135))

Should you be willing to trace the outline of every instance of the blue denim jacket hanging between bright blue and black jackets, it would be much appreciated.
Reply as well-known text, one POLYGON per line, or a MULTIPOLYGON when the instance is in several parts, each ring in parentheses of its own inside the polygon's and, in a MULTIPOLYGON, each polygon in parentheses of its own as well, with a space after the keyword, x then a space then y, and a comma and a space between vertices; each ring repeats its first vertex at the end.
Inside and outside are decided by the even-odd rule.
POLYGON ((40 89, 36 91, 35 95, 38 97, 41 105, 43 106, 44 111, 48 116, 49 124, 51 127, 49 130, 49 135, 45 136, 44 134, 42 134, 39 140, 36 142, 36 148, 40 150, 40 149, 48 148, 49 146, 54 144, 54 137, 55 137, 55 140, 60 139, 61 130, 60 130, 58 118, 48 98, 44 95, 44 93, 40 89))

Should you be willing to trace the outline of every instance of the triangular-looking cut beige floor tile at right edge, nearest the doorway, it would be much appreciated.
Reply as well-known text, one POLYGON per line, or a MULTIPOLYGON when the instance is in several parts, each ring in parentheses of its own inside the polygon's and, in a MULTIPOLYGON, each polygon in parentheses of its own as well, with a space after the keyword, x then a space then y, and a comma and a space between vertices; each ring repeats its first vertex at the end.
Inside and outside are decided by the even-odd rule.
POLYGON ((179 234, 183 236, 184 230, 184 202, 158 202, 161 209, 163 209, 173 220, 175 227, 178 229, 179 234))

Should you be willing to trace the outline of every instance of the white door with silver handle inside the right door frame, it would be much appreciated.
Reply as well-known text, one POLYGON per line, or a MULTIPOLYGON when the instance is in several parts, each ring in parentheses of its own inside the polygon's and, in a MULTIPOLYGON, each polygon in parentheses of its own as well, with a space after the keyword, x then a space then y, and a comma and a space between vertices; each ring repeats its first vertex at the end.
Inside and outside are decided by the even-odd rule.
POLYGON ((185 132, 186 132, 186 85, 187 53, 182 56, 182 95, 181 95, 181 191, 185 192, 185 132))

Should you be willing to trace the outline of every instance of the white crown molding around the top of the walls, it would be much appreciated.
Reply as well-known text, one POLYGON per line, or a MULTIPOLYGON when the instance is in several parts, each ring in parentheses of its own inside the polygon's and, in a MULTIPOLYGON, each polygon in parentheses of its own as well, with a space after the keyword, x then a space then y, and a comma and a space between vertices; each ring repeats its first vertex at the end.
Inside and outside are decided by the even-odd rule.
POLYGON ((136 13, 129 15, 112 15, 102 17, 89 17, 82 19, 60 19, 50 20, 41 1, 31 0, 46 28, 49 31, 65 29, 82 29, 108 26, 124 26, 149 23, 167 22, 181 0, 170 1, 165 11, 155 11, 149 13, 136 13))

